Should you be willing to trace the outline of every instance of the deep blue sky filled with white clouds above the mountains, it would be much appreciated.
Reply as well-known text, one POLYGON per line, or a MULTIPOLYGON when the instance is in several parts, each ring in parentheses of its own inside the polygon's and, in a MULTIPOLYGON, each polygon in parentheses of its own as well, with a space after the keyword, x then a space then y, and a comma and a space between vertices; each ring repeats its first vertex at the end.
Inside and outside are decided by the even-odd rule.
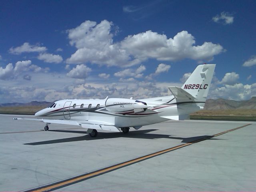
POLYGON ((0 1, 0 99, 148 98, 215 63, 208 98, 256 96, 255 1, 0 1))

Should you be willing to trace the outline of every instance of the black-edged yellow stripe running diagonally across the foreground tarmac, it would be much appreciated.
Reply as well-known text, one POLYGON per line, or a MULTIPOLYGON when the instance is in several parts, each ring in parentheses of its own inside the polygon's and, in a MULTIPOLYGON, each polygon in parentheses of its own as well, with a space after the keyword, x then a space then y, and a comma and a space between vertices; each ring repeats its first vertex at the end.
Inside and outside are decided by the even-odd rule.
POLYGON ((143 161, 143 160, 146 160, 146 159, 149 159, 149 158, 152 158, 152 157, 155 157, 155 156, 158 156, 158 155, 170 152, 170 151, 174 151, 174 150, 183 148, 185 146, 192 145, 192 144, 197 143, 197 142, 208 140, 210 138, 220 136, 222 134, 225 134, 225 133, 228 133, 228 132, 231 132, 231 131, 234 131, 234 130, 237 130, 237 129, 240 129, 240 128, 243 128, 243 127, 246 127, 246 126, 249 126, 249 125, 251 125, 251 124, 246 124, 246 125, 234 128, 234 129, 230 129, 230 130, 227 130, 227 131, 224 131, 224 132, 220 132, 220 133, 212 135, 212 136, 207 136, 207 137, 202 138, 202 139, 194 140, 194 141, 186 143, 186 144, 182 144, 182 145, 178 145, 178 146, 175 146, 175 147, 172 147, 172 148, 168 148, 168 149, 165 149, 165 150, 154 152, 152 154, 148 154, 148 155, 145 155, 145 156, 142 156, 142 157, 138 157, 138 158, 126 161, 126 162, 122 162, 122 163, 113 165, 113 166, 102 168, 102 169, 96 170, 94 172, 82 174, 80 176, 76 176, 76 177, 73 177, 73 178, 69 178, 69 179, 62 180, 62 181, 59 181, 59 182, 55 182, 55 183, 52 183, 52 184, 48 184, 48 185, 45 185, 45 186, 33 188, 33 189, 30 189, 30 190, 26 190, 24 192, 44 192, 44 191, 52 191, 52 190, 56 190, 56 189, 59 189, 59 188, 63 188, 65 186, 69 186, 69 185, 75 184, 77 182, 81 182, 81 181, 87 180, 89 178, 99 176, 101 174, 105 174, 107 172, 111 172, 111 171, 117 170, 119 168, 129 166, 131 164, 134 164, 134 163, 137 163, 137 162, 140 162, 140 161, 143 161))

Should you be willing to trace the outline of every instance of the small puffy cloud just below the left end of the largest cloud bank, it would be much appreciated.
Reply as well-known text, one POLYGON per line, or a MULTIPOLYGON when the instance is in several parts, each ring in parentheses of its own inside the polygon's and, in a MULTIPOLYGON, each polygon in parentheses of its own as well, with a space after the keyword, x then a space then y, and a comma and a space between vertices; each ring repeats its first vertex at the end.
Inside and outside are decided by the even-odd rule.
POLYGON ((87 67, 84 64, 80 64, 74 67, 70 72, 68 72, 67 76, 71 78, 85 79, 91 71, 91 68, 87 67))

